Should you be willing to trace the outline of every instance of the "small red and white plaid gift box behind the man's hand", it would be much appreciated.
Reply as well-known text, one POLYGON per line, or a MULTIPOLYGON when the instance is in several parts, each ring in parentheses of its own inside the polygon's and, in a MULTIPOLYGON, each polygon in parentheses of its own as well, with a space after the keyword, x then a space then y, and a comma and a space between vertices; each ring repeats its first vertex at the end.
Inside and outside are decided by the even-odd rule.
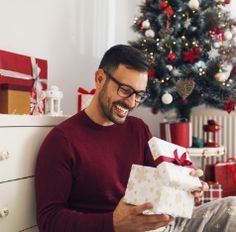
POLYGON ((209 189, 204 191, 201 204, 222 198, 222 186, 218 182, 208 182, 209 189))

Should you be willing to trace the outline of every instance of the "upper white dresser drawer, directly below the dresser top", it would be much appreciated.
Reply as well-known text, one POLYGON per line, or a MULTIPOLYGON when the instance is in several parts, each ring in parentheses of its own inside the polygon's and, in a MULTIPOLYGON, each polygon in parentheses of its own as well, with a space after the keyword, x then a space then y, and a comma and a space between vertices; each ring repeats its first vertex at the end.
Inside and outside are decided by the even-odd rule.
POLYGON ((34 175, 39 148, 52 127, 0 127, 0 182, 34 175))

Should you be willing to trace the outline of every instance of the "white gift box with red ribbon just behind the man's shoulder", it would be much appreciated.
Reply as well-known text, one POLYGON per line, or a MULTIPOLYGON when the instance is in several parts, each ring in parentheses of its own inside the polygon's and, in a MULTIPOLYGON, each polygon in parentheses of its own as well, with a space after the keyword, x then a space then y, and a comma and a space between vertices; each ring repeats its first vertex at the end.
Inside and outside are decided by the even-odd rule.
POLYGON ((93 99, 95 89, 87 91, 81 87, 78 88, 78 112, 85 109, 93 99))

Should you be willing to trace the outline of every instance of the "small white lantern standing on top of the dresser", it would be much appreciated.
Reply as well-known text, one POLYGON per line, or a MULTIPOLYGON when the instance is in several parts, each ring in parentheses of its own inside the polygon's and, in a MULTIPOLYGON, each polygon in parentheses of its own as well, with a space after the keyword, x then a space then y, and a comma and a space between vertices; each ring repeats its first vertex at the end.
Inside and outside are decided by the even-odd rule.
POLYGON ((63 98, 62 91, 59 91, 58 87, 53 85, 45 92, 45 114, 61 116, 63 114, 63 111, 61 110, 61 99, 63 98))

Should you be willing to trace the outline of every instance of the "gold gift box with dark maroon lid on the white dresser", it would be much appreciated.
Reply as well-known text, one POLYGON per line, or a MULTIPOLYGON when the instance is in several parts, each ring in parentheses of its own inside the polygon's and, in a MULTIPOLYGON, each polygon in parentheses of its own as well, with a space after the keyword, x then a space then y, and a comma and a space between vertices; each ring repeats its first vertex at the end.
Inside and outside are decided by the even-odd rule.
POLYGON ((0 84, 0 113, 29 114, 30 86, 0 84))

